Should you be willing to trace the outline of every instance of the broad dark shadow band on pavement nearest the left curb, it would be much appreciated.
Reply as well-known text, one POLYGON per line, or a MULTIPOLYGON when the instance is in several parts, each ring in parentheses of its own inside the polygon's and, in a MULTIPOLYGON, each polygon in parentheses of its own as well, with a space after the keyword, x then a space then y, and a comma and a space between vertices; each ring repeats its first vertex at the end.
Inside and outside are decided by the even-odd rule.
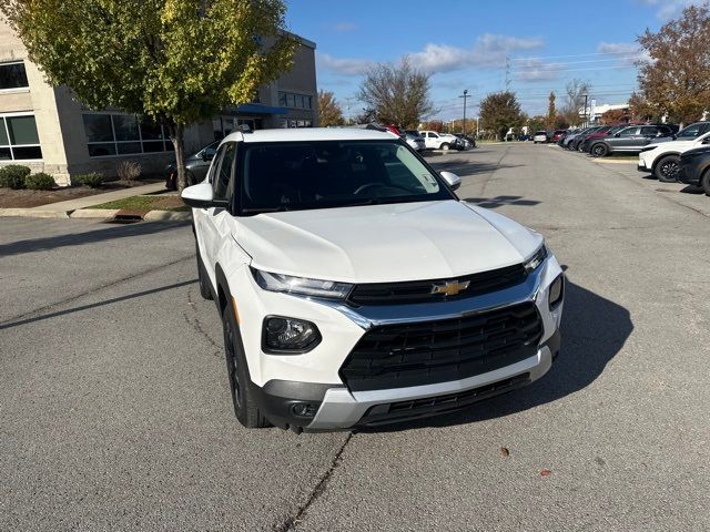
POLYGON ((29 241, 17 241, 0 245, 0 257, 8 255, 19 255, 23 253, 47 252, 64 246, 81 246, 94 244, 97 242, 108 242, 116 238, 130 238, 132 236, 144 236, 163 231, 185 227, 191 222, 141 222, 130 225, 106 225, 101 229, 72 233, 45 238, 32 238, 29 241))

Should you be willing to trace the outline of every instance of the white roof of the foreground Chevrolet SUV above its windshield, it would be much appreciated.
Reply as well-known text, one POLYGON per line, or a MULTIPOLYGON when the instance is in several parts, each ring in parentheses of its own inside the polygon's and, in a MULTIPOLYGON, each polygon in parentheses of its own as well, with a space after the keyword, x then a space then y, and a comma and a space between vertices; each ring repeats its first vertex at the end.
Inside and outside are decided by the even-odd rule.
POLYGON ((392 141, 398 139, 389 132, 357 127, 292 127, 257 130, 247 133, 235 131, 224 140, 232 142, 297 142, 297 141, 392 141))

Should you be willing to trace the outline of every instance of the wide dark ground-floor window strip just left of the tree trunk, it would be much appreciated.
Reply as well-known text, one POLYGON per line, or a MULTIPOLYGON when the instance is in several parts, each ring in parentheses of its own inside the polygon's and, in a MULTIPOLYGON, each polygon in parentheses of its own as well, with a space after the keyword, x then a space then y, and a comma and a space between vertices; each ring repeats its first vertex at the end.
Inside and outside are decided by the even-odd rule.
POLYGON ((83 115, 90 157, 162 153, 174 150, 162 125, 130 114, 83 115))

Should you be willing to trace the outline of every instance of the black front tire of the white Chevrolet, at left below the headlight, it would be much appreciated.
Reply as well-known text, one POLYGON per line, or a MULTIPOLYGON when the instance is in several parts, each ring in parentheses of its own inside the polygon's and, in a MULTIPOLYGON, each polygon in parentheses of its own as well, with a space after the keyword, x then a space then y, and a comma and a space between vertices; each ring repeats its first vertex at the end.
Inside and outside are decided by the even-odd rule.
POLYGON ((242 346, 240 329, 231 303, 227 303, 224 307, 222 327, 224 330, 224 357, 234 416, 247 429, 270 427, 271 423, 258 410, 251 390, 244 347, 242 346))

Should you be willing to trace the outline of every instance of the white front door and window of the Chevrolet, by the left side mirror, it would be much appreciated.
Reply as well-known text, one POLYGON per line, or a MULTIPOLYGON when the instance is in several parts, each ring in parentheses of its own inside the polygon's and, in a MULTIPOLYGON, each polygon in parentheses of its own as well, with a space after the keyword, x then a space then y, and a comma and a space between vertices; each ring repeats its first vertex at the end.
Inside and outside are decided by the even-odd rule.
MULTIPOLYGON (((214 163, 210 168, 210 183, 215 200, 231 200, 234 194, 234 161, 236 158, 236 143, 226 142, 220 146, 214 163)), ((203 214, 204 249, 203 262, 205 269, 214 284, 214 268, 217 253, 225 238, 230 237, 232 213, 225 207, 210 207, 201 209, 203 214)))

